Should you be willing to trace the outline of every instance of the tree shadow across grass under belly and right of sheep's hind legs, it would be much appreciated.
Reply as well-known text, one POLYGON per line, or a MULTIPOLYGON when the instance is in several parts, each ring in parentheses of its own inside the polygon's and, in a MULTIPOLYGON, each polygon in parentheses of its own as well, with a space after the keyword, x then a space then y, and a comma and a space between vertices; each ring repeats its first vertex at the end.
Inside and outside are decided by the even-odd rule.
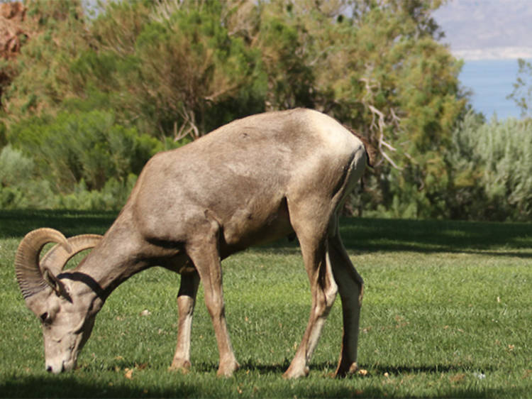
MULTIPOLYGON (((472 253, 485 256, 532 258, 532 224, 343 218, 340 234, 348 251, 372 253, 472 253)), ((261 247, 294 254, 288 240, 261 247)))

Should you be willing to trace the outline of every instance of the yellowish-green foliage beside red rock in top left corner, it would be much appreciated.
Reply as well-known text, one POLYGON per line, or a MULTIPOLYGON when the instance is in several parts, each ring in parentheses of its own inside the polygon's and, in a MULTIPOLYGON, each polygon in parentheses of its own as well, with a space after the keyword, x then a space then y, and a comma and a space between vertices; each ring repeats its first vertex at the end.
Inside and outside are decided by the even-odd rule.
POLYGON ((70 73, 68 60, 88 45, 80 1, 31 0, 27 5, 24 23, 31 36, 11 62, 16 72, 2 93, 7 124, 35 114, 55 114, 70 94, 61 79, 70 73))

